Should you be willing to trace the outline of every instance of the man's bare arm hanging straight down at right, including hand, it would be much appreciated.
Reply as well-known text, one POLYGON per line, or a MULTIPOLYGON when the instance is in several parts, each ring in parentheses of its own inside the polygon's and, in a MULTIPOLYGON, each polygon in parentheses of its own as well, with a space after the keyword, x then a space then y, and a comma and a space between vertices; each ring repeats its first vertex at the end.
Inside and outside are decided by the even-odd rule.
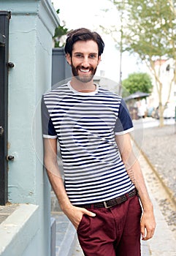
POLYGON ((145 181, 142 176, 142 170, 139 165, 139 161, 134 155, 131 146, 131 138, 129 133, 124 135, 115 136, 116 143, 120 150, 120 155, 122 157, 123 163, 126 166, 127 173, 134 186, 137 188, 139 193, 139 198, 142 203, 143 213, 141 218, 141 233, 142 239, 148 240, 153 237, 156 221, 153 214, 153 204, 150 201, 147 188, 145 186, 145 181), (146 231, 146 233, 145 233, 146 231))

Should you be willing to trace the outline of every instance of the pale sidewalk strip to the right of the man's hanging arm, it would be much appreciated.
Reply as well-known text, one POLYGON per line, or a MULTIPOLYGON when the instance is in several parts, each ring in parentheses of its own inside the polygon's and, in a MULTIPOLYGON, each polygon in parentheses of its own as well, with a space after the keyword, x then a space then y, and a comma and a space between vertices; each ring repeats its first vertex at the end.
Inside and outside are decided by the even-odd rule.
POLYGON ((168 198, 167 192, 163 189, 161 182, 158 180, 155 173, 153 173, 145 157, 140 155, 139 162, 142 167, 150 198, 153 202, 156 217, 156 232, 152 239, 142 242, 142 247, 148 246, 149 255, 152 256, 176 256, 176 233, 172 232, 171 227, 169 227, 164 218, 164 214, 161 213, 158 199, 160 197, 162 197, 163 200, 168 198))

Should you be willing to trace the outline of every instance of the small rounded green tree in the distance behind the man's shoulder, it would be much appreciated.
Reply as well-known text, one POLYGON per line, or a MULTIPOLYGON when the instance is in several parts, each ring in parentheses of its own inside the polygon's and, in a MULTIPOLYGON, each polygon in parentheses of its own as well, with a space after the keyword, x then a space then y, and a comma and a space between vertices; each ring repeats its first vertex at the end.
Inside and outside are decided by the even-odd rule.
POLYGON ((128 78, 122 81, 122 85, 129 91, 129 94, 134 94, 137 91, 150 93, 153 88, 150 75, 142 72, 130 74, 128 78))

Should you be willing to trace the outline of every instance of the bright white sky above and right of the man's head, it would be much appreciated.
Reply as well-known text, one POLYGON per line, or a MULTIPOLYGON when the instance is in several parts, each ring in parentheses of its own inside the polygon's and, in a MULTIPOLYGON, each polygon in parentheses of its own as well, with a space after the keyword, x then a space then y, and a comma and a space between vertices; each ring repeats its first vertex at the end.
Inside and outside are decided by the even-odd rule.
MULTIPOLYGON (((120 50, 115 48, 115 41, 111 34, 105 34, 100 26, 109 29, 110 26, 120 26, 120 17, 114 5, 109 0, 51 0, 56 10, 60 10, 58 18, 61 25, 65 23, 67 29, 85 27, 97 31, 104 40, 105 47, 102 61, 99 64, 96 75, 104 73, 105 78, 120 80, 120 50), (104 10, 109 10, 104 12, 104 10)), ((116 38, 120 40, 120 34, 116 38)), ((139 72, 141 66, 136 64, 137 59, 122 55, 122 80, 132 72, 139 72)))

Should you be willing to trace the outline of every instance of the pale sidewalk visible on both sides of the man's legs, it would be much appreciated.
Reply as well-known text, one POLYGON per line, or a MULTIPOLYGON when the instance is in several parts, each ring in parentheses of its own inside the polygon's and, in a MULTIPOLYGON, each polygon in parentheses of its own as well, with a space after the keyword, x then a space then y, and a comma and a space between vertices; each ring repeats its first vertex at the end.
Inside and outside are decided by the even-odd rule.
MULTIPOLYGON (((175 233, 171 231, 166 219, 164 219, 157 200, 158 197, 163 197, 164 199, 165 192, 162 190, 160 181, 157 180, 157 176, 153 173, 148 161, 145 157, 139 156, 137 146, 134 145, 134 149, 139 157, 148 192, 153 202, 157 223, 155 236, 149 241, 142 241, 142 256, 176 256, 175 233)), ((57 212, 52 214, 56 219, 56 256, 82 256, 83 253, 77 244, 74 227, 57 207, 55 206, 57 212)))

